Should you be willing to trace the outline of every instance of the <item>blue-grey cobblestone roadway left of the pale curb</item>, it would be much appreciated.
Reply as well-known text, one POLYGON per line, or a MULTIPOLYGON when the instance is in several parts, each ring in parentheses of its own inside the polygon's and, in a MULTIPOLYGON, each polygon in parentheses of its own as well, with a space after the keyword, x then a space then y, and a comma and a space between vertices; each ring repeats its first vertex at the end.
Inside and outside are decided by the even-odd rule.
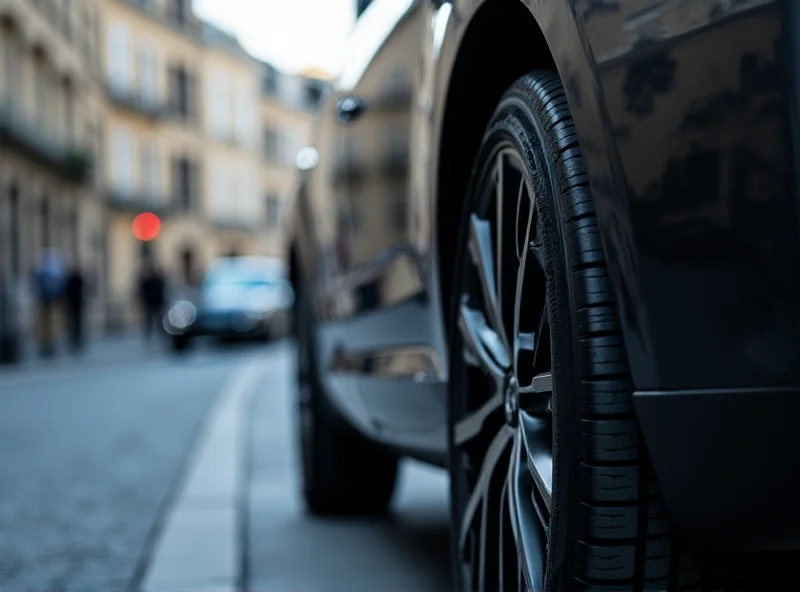
POLYGON ((252 350, 137 345, 0 374, 0 590, 111 592, 141 576, 193 437, 252 350))

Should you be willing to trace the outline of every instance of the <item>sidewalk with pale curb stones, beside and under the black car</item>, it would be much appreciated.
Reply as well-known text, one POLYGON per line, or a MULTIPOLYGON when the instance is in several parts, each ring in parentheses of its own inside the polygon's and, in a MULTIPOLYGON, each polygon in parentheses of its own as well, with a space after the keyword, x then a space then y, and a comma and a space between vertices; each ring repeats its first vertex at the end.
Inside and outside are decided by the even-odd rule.
POLYGON ((199 434, 140 592, 446 592, 448 479, 404 462, 392 515, 334 519, 302 504, 290 343, 238 367, 199 434))

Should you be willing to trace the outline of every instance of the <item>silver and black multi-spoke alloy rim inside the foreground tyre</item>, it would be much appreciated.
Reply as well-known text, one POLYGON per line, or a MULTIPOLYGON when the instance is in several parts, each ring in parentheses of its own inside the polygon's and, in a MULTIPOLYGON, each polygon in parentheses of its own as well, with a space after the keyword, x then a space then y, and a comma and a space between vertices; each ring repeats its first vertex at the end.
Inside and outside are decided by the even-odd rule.
POLYGON ((478 179, 454 336, 458 568, 469 590, 540 590, 556 411, 541 219, 512 145, 500 143, 478 179))

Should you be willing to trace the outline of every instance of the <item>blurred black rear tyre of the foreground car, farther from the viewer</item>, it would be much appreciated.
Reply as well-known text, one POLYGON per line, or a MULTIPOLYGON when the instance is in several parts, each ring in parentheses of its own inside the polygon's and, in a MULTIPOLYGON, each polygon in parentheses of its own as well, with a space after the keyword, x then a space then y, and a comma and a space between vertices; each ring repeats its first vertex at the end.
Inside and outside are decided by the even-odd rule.
POLYGON ((329 402, 317 372, 310 306, 296 312, 298 431, 306 506, 322 515, 385 513, 398 459, 360 435, 329 402))

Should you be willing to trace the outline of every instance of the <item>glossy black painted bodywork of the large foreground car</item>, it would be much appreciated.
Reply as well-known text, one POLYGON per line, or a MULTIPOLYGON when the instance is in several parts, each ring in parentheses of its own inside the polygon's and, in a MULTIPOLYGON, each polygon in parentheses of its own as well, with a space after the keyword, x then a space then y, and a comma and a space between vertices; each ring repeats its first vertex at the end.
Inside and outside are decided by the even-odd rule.
MULTIPOLYGON (((464 147, 491 114, 477 106, 536 67, 555 67, 567 89, 636 389, 796 389, 798 11, 789 0, 375 0, 319 122, 290 244, 343 413, 444 462, 455 236, 440 229, 458 218, 464 147), (513 67, 473 59, 469 79, 485 84, 459 86, 459 56, 475 51, 465 39, 489 19, 481 51, 504 42, 496 31, 527 37, 503 60, 513 67), (421 378, 338 363, 415 368, 416 347, 437 360, 421 378)), ((671 417, 691 419, 675 400, 671 417)), ((668 447, 669 433, 646 429, 648 446, 668 447)), ((670 478, 680 462, 654 459, 670 478)))

